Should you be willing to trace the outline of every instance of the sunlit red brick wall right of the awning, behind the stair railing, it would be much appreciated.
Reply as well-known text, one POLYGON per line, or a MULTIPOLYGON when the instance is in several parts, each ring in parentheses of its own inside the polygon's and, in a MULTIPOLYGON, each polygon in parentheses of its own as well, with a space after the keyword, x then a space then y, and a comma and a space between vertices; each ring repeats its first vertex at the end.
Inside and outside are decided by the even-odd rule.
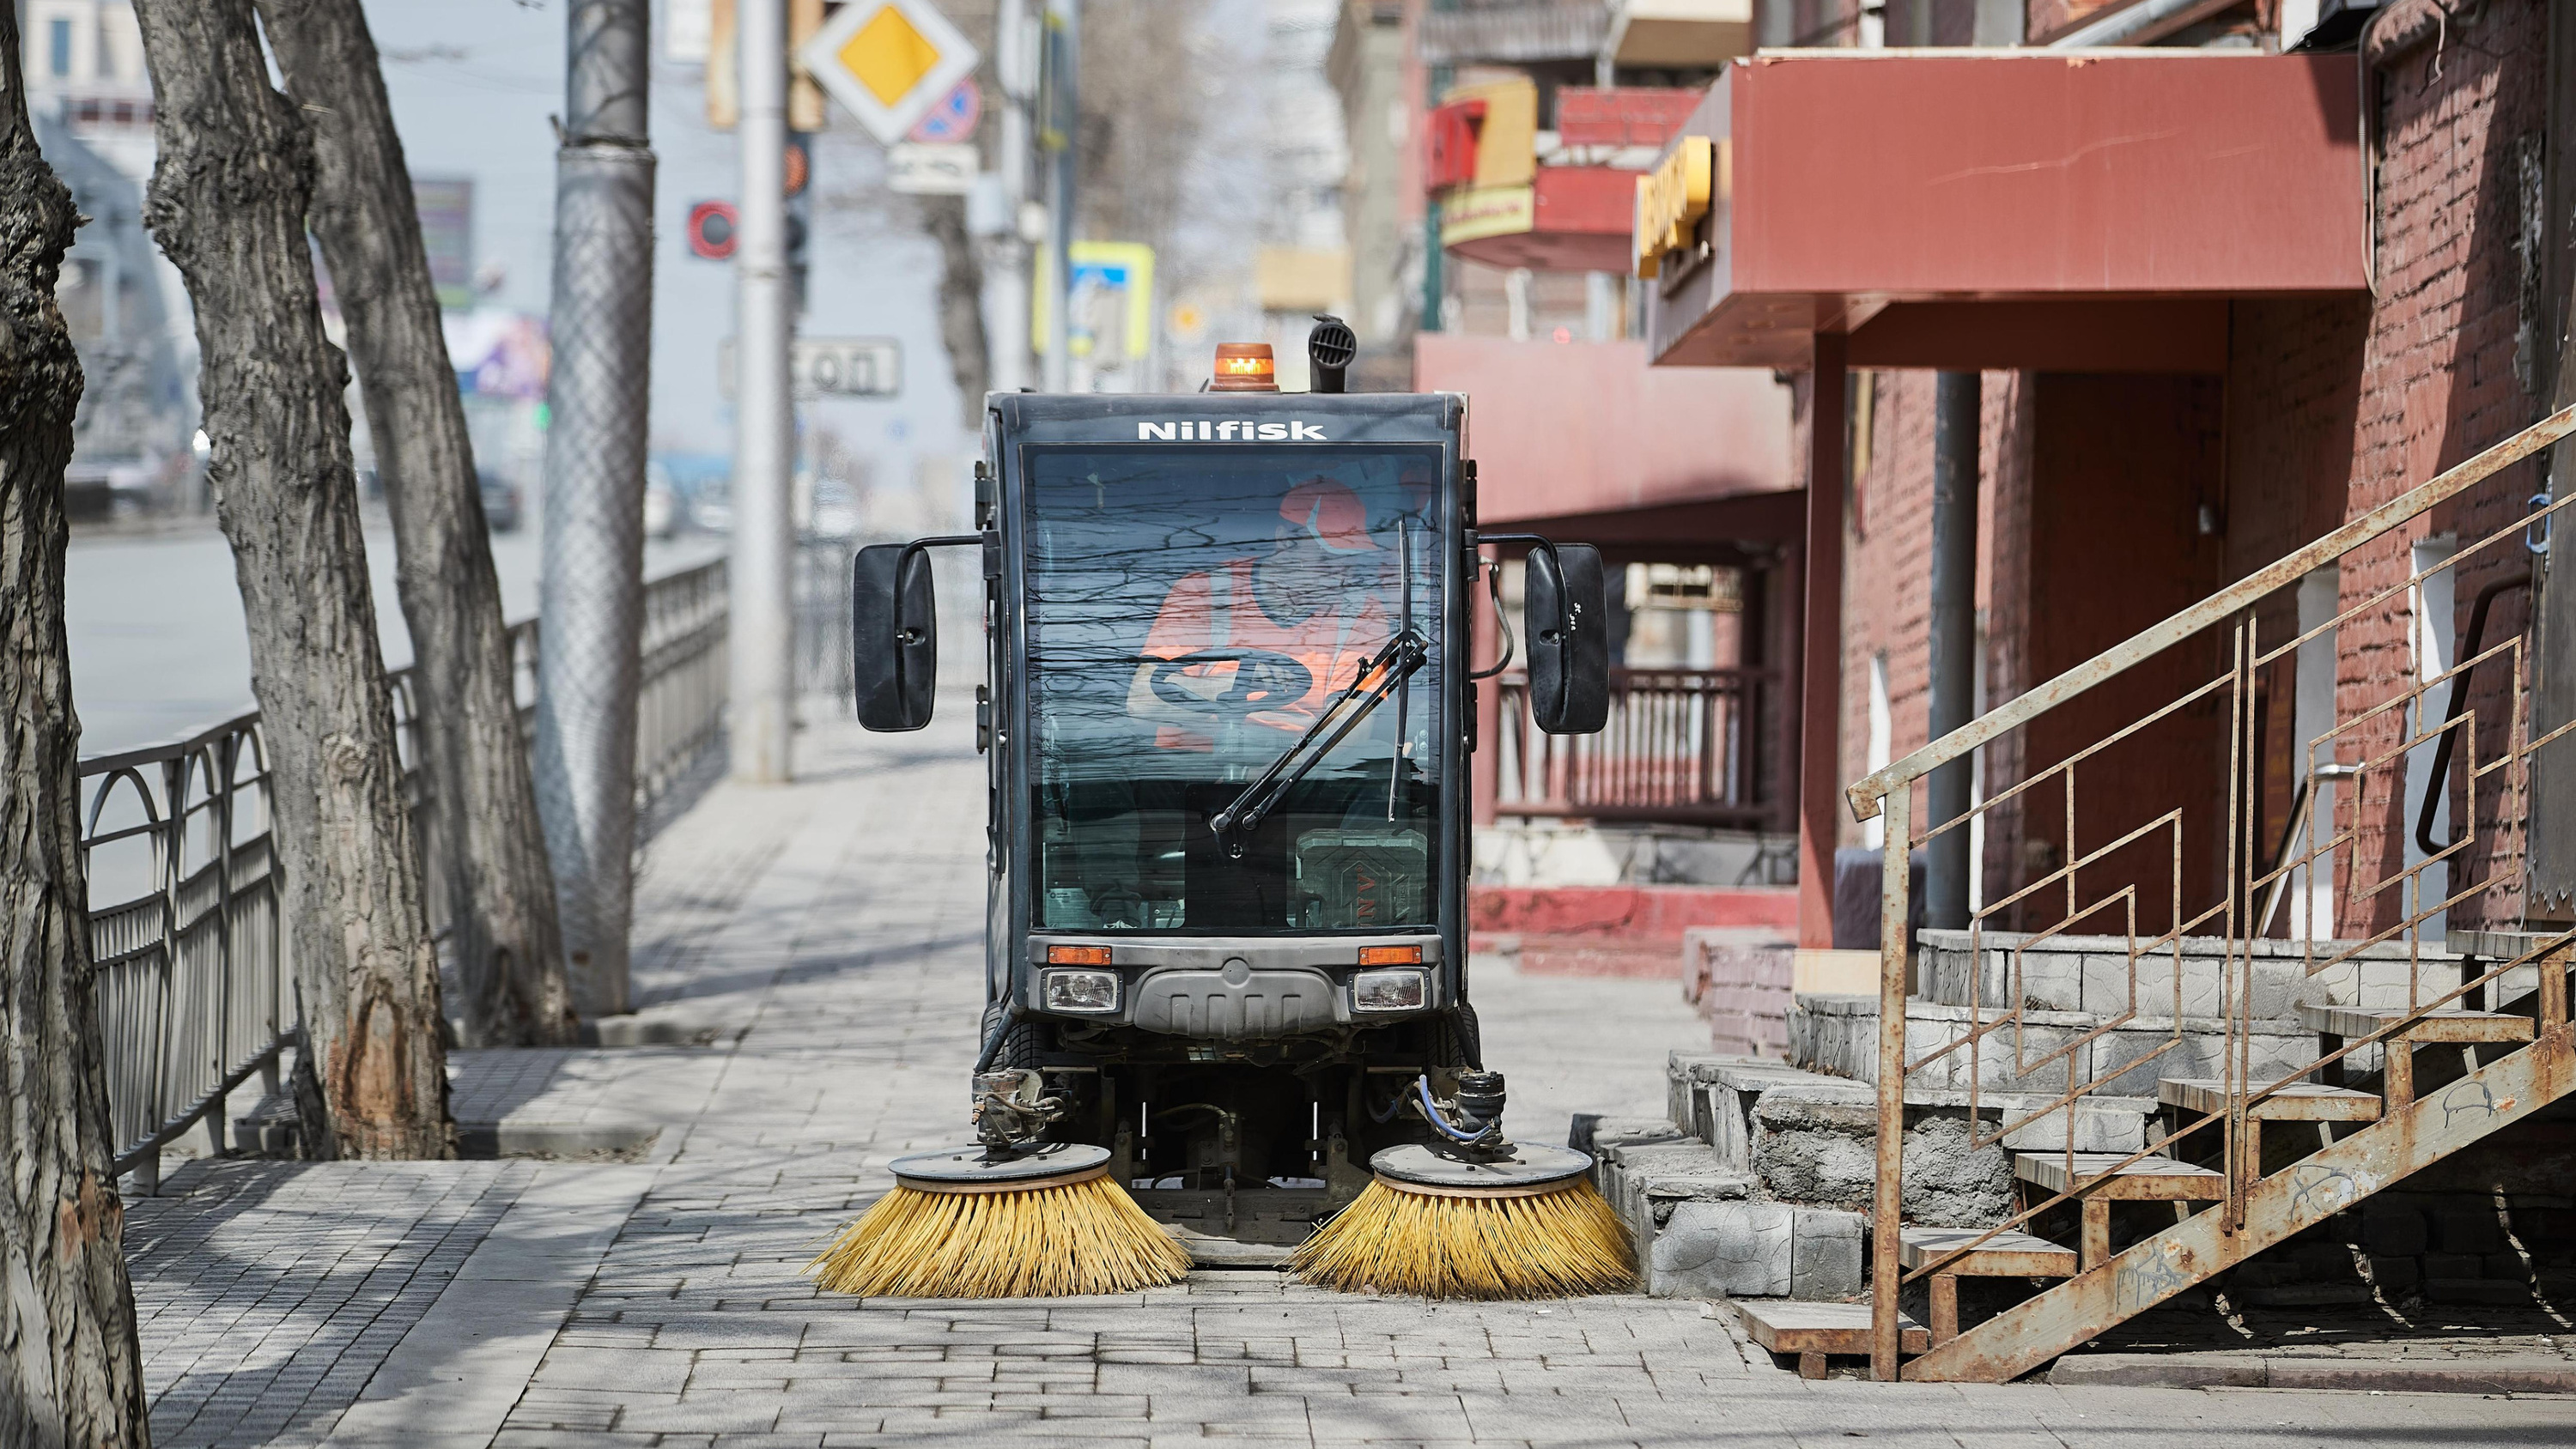
MULTIPOLYGON (((2527 183, 2537 180, 2548 111, 2545 49, 2543 3, 2486 5, 2473 23, 2452 21, 2434 44, 2388 64, 2367 95, 2378 136, 2378 296, 2360 358, 2347 517, 2398 497, 2545 412, 2530 391, 2537 360, 2522 355, 2527 337, 2540 335, 2524 332, 2540 299, 2517 245, 2535 206, 2527 183)), ((2339 641, 2342 718, 2411 687, 2414 618, 2403 589, 2411 543, 2455 535, 2465 548, 2509 528, 2522 515, 2522 499, 2540 484, 2537 466, 2514 468, 2419 520, 2406 538, 2391 538, 2344 564, 2344 607, 2362 607, 2362 615, 2339 641)), ((2458 638, 2476 592, 2527 564, 2517 546, 2463 558, 2452 589, 2455 618, 2442 628, 2458 638)), ((2488 641, 2522 633, 2527 613, 2527 592, 2499 597, 2488 641)), ((2483 669, 2476 685, 2481 754, 2491 754, 2506 728, 2506 669, 2483 669)), ((2344 759, 2385 754, 2401 741, 2401 728, 2396 713, 2370 721, 2354 731, 2344 759)), ((2455 780, 2460 775, 2452 772, 2455 780)), ((2455 906, 2455 924, 2519 916, 2519 888, 2504 883, 2517 878, 2522 829, 2519 818, 2509 818, 2519 811, 2501 800, 2501 785, 2499 772, 2481 790, 2478 836, 2465 867, 2455 867, 2452 891, 2473 880, 2499 885, 2455 906), (2506 818, 2496 818, 2499 813, 2506 818)), ((2414 831, 2414 821, 2403 818, 2403 790, 2398 770, 2378 770, 2362 780, 2357 800, 2339 806, 2342 824, 2357 831, 2354 854, 2339 875, 2347 937, 2403 919, 2398 891, 2372 888, 2403 867, 2403 842, 2414 831)), ((2455 821, 2468 818, 2465 806, 2455 785, 2455 821)))

